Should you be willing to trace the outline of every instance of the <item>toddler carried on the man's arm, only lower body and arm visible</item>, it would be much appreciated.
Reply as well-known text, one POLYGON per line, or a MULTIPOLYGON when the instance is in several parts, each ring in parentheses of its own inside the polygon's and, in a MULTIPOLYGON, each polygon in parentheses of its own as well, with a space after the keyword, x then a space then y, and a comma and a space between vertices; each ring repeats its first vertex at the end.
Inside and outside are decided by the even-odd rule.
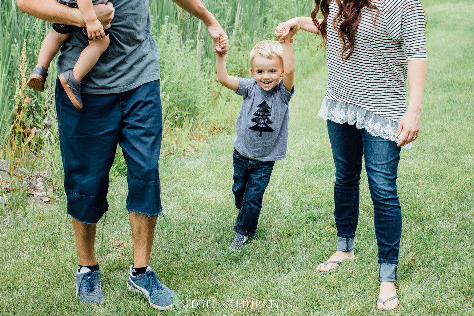
MULTIPOLYGON (((108 29, 103 29, 102 23, 95 15, 93 4, 102 4, 107 0, 57 0, 60 4, 79 8, 87 27, 82 28, 84 36, 87 36, 89 45, 84 48, 73 69, 59 74, 61 82, 67 96, 72 104, 80 110, 82 109, 82 99, 80 97, 81 81, 85 75, 97 63, 100 55, 107 50, 110 43, 108 29)), ((39 51, 38 64, 31 72, 26 84, 35 90, 44 91, 44 82, 47 78, 47 70, 52 59, 56 56, 62 44, 69 38, 75 26, 52 24, 52 28, 44 38, 39 51)))

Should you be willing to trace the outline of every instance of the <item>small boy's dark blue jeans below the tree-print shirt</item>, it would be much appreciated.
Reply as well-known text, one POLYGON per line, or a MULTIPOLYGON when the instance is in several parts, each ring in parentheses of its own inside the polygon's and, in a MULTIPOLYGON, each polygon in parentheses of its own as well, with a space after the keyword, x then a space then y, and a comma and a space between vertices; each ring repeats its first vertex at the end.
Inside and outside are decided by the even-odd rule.
POLYGON ((239 209, 234 230, 248 238, 253 237, 263 201, 263 193, 270 182, 275 161, 255 161, 248 159, 234 149, 232 192, 235 206, 239 209))

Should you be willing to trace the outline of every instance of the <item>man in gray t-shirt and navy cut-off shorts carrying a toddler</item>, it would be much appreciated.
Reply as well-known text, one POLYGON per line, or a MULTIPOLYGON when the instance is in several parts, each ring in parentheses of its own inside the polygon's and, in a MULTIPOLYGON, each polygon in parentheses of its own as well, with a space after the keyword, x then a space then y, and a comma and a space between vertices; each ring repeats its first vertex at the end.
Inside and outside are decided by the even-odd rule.
MULTIPOLYGON (((227 52, 227 45, 219 46, 219 38, 227 37, 225 32, 199 0, 173 1, 204 22, 214 39, 214 52, 227 52)), ((46 21, 85 26, 78 9, 56 0, 17 0, 17 5, 22 12, 46 21)), ((82 82, 82 110, 72 105, 56 80, 67 213, 72 217, 79 259, 76 293, 86 303, 100 303, 104 298, 94 243, 96 224, 108 210, 108 174, 120 144, 128 166, 126 209, 133 236, 127 287, 164 310, 173 306, 174 292, 158 281, 149 266, 156 217, 161 212, 162 116, 158 50, 150 32, 148 0, 111 0, 94 5, 94 10, 104 28, 112 24, 110 46, 82 82)), ((74 29, 57 59, 58 73, 69 70, 66 67, 75 63, 86 45, 80 28, 74 29)))

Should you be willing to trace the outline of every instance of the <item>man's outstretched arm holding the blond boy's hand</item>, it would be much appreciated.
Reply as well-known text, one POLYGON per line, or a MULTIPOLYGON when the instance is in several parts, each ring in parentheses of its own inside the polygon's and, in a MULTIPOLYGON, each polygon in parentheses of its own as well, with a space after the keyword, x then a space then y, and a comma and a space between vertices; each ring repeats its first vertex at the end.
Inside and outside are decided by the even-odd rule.
POLYGON ((228 45, 221 47, 219 45, 219 39, 221 37, 227 38, 224 30, 220 26, 219 22, 215 19, 214 15, 209 12, 204 4, 200 0, 172 0, 174 3, 182 7, 187 12, 191 13, 198 19, 200 19, 206 26, 210 37, 214 40, 214 52, 219 55, 225 55, 228 51, 228 45))

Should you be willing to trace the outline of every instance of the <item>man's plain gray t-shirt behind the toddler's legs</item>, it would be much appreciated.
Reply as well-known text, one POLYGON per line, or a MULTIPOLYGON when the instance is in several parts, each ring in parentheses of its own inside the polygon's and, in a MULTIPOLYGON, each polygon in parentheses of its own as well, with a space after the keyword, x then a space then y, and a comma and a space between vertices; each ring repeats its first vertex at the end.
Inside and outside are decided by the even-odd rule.
MULTIPOLYGON (((151 36, 148 0, 109 0, 115 17, 109 29, 110 45, 82 80, 82 92, 120 93, 159 79, 158 48, 151 36)), ((74 27, 57 57, 57 71, 74 67, 87 36, 74 27)))

